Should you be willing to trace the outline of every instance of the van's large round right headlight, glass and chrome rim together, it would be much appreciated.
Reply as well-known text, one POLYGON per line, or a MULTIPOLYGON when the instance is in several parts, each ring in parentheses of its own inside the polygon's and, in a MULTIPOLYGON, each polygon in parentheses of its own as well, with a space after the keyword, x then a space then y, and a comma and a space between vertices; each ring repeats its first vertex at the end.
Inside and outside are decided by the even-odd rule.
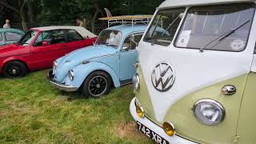
POLYGON ((211 99, 202 99, 194 105, 194 115, 205 125, 217 125, 222 122, 225 110, 219 103, 211 99))

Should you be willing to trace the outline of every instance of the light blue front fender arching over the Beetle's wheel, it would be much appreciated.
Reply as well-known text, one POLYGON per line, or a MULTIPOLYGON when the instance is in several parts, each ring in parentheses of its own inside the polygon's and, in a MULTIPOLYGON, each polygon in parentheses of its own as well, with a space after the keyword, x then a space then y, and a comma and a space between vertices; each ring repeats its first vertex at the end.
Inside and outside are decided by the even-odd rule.
POLYGON ((96 70, 106 71, 108 74, 110 74, 110 77, 112 78, 114 86, 115 87, 121 86, 118 74, 116 74, 114 70, 110 68, 110 66, 107 66, 106 64, 101 62, 90 62, 87 64, 81 64, 79 66, 76 66, 73 69, 74 80, 71 82, 70 78, 66 77, 65 79, 66 85, 80 87, 82 86, 82 83, 87 78, 87 76, 96 70))

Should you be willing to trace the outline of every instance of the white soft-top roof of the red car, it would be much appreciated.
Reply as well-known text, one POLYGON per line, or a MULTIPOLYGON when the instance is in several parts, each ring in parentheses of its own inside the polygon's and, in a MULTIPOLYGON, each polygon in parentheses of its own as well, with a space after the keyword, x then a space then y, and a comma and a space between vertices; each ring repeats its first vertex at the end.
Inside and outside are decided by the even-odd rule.
POLYGON ((40 31, 47 31, 47 30, 58 30, 58 29, 70 29, 70 30, 76 30, 79 34, 82 35, 84 38, 95 38, 97 35, 91 33, 89 30, 86 30, 86 28, 81 26, 44 26, 44 27, 34 27, 33 30, 40 30, 40 31))

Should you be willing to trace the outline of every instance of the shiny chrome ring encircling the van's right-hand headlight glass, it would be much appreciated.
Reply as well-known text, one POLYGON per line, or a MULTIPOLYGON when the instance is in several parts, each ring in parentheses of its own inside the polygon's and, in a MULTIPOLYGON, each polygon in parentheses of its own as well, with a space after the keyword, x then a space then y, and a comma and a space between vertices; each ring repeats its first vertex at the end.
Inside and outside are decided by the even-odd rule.
POLYGON ((213 99, 201 99, 199 100, 198 102, 196 102, 192 108, 193 112, 195 110, 195 107, 198 106, 198 104, 202 103, 202 102, 210 102, 210 103, 214 103, 215 105, 217 105, 221 110, 222 110, 222 119, 218 122, 218 123, 215 123, 215 124, 208 124, 208 123, 204 123, 202 122, 200 119, 198 119, 198 117, 196 116, 196 114, 194 113, 194 117, 198 119, 199 122, 202 122, 202 124, 205 124, 205 125, 208 125, 208 126, 214 126, 214 125, 218 125, 220 122, 223 121, 223 119, 225 118, 225 108, 224 106, 222 106, 221 103, 213 100, 213 99))

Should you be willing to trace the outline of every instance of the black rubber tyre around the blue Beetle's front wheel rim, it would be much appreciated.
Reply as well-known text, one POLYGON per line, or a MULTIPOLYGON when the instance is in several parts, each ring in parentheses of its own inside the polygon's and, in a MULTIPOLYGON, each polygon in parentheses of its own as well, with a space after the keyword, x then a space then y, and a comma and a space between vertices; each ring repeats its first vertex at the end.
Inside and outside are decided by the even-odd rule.
POLYGON ((106 95, 110 92, 111 88, 111 78, 110 75, 107 74, 105 71, 94 71, 93 73, 89 74, 89 76, 86 78, 86 80, 83 82, 82 85, 82 93, 86 98, 101 98, 103 95, 106 95), (94 78, 105 78, 106 80, 106 89, 102 92, 102 94, 95 96, 90 92, 89 86, 91 82, 94 80, 94 78))

